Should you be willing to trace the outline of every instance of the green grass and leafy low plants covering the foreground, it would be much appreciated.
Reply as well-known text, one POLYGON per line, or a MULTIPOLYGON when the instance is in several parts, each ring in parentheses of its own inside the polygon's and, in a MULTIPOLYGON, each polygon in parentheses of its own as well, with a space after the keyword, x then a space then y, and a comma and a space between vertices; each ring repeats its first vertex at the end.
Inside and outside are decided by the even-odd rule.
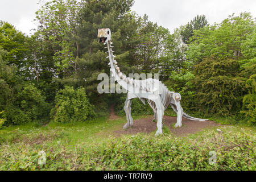
POLYGON ((125 122, 125 117, 99 118, 2 129, 0 170, 255 170, 255 127, 221 126, 223 133, 212 128, 186 138, 166 128, 157 138, 154 133, 108 136, 125 122), (42 150, 46 165, 38 164, 42 150), (209 151, 216 152, 217 164, 209 164, 209 151))

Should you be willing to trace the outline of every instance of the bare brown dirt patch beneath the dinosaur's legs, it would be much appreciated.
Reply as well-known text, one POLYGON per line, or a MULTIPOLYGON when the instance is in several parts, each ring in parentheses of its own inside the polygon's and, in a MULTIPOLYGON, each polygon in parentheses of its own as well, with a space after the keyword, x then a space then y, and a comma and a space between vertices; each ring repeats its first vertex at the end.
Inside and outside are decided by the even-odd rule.
MULTIPOLYGON (((123 130, 114 131, 114 134, 121 136, 123 134, 137 134, 137 133, 151 133, 156 131, 156 122, 152 122, 152 118, 143 118, 134 121, 133 127, 123 130)), ((220 126, 220 124, 214 121, 192 121, 187 118, 182 118, 182 127, 174 128, 174 124, 177 122, 176 117, 164 116, 163 126, 166 126, 170 129, 171 133, 174 133, 178 137, 185 137, 188 134, 197 133, 203 129, 210 127, 220 126)))

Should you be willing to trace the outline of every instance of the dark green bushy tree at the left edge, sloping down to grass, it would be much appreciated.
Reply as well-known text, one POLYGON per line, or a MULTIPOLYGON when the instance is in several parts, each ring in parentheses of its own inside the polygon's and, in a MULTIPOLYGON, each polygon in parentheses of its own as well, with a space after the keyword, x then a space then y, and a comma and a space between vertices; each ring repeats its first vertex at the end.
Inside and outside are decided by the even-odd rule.
POLYGON ((0 110, 5 125, 19 125, 47 117, 49 105, 34 84, 24 81, 14 65, 7 65, 2 59, 7 54, 0 47, 0 110))

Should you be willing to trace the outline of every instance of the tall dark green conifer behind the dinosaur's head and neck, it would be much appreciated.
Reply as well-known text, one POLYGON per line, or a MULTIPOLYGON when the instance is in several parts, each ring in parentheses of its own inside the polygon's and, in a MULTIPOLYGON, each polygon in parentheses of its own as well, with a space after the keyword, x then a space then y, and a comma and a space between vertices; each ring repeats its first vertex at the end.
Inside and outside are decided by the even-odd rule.
MULTIPOLYGON (((122 72, 129 73, 131 68, 131 54, 128 48, 131 46, 131 37, 137 30, 137 22, 134 14, 130 13, 133 1, 82 1, 79 10, 79 39, 81 57, 77 59, 77 85, 86 88, 86 92, 93 104, 104 104, 108 97, 97 92, 97 76, 107 73, 109 60, 106 59, 106 49, 102 43, 98 43, 98 28, 108 27, 112 31, 115 59, 122 68, 122 72), (100 102, 100 103, 99 103, 100 102)), ((75 85, 73 85, 75 86, 75 85)), ((113 97, 113 96, 109 96, 113 97)))

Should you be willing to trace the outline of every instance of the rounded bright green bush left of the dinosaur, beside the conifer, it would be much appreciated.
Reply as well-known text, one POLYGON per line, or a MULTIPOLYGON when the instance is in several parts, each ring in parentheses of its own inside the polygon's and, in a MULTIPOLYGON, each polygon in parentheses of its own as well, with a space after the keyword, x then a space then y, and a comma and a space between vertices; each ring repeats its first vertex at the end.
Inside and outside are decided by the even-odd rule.
POLYGON ((82 122, 94 115, 94 106, 89 103, 84 88, 65 86, 57 92, 55 107, 51 110, 55 122, 82 122))

